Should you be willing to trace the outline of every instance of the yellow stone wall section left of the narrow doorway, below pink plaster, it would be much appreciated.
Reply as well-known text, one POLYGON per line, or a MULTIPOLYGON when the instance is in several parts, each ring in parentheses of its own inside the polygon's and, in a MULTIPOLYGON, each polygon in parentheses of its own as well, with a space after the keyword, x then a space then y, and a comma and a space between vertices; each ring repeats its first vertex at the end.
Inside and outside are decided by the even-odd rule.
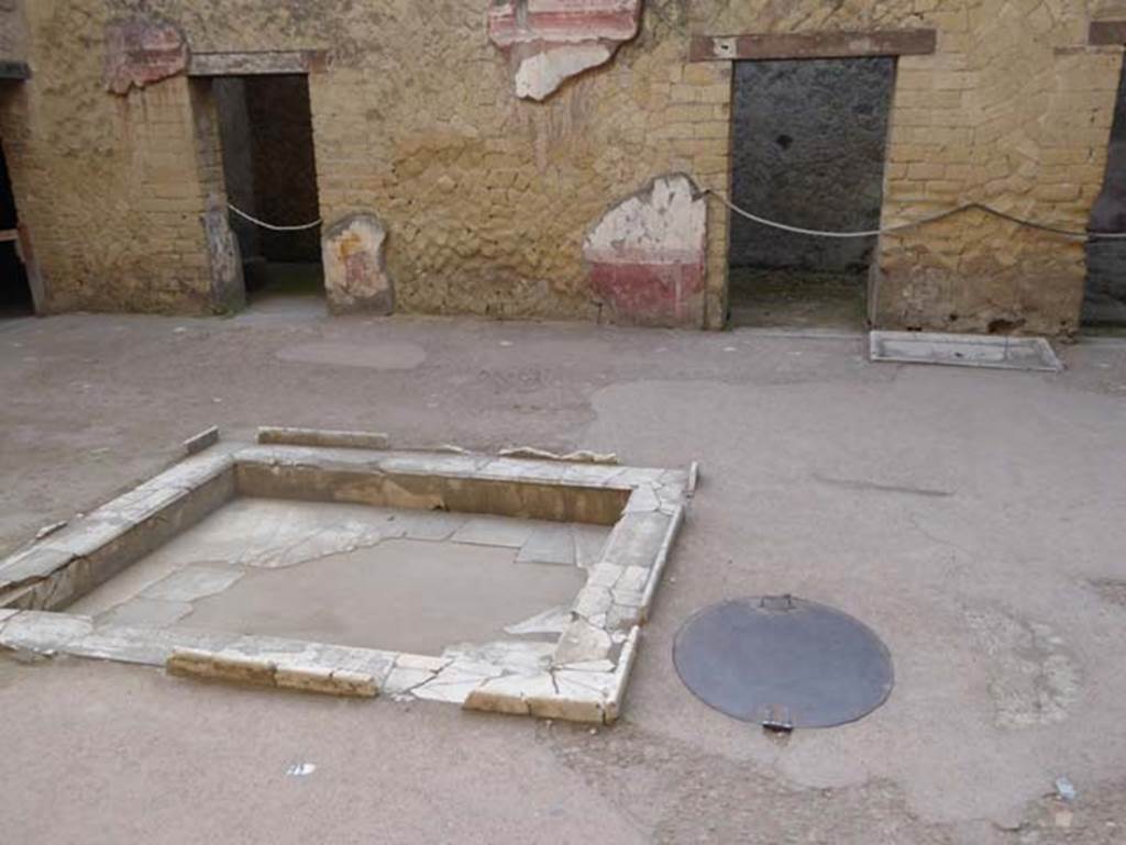
POLYGON ((45 311, 209 311, 199 215, 216 170, 202 169, 197 83, 107 93, 109 10, 51 1, 26 11, 33 75, 0 88, 0 141, 45 311))

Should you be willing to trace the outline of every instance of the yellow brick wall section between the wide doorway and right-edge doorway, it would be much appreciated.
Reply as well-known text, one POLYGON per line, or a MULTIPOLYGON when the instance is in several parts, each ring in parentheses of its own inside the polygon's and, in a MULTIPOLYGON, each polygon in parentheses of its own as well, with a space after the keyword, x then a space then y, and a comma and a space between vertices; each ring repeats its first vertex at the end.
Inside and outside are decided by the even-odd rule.
MULTIPOLYGON (((1082 231, 1099 192, 1121 48, 1083 3, 929 3, 938 53, 899 63, 884 222, 966 201, 1082 231)), ((882 240, 879 325, 1062 334, 1083 245, 968 213, 882 240)))

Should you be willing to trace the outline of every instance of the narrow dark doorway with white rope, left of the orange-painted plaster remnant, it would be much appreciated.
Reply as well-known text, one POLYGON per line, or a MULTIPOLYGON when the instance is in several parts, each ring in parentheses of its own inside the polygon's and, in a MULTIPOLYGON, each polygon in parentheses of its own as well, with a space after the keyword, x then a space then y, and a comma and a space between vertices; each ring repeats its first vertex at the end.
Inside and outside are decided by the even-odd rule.
MULTIPOLYGON (((213 82, 231 206, 275 226, 320 216, 309 80, 217 77, 213 82)), ((323 296, 320 228, 277 232, 231 213, 247 298, 323 296)))

